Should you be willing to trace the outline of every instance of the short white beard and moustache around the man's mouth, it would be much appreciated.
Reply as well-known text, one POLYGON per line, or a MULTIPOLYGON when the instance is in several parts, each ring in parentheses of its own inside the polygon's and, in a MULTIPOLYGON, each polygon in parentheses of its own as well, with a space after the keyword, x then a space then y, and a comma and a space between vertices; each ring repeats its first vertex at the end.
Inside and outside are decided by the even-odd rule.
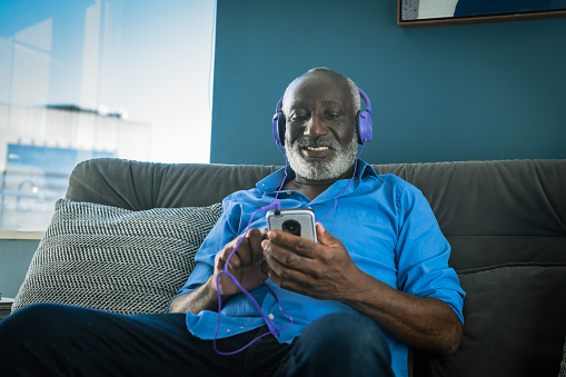
POLYGON ((289 165, 297 177, 309 180, 330 180, 342 176, 351 168, 358 153, 357 136, 354 135, 350 142, 342 147, 336 140, 320 140, 304 137, 286 148, 289 165), (305 147, 329 147, 335 150, 334 158, 328 162, 307 160, 301 153, 305 147))

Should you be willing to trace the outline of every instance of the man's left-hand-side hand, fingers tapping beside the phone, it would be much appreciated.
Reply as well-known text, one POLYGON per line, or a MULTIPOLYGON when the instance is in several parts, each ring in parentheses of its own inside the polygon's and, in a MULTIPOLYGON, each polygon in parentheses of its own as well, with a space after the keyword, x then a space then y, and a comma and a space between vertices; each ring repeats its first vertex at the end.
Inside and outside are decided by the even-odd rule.
MULTIPOLYGON (((214 282, 216 285, 217 276, 220 271, 226 269, 228 261, 228 271, 238 280, 238 282, 246 289, 252 290, 259 287, 267 279, 267 268, 261 265, 265 264, 264 250, 261 249, 261 240, 267 239, 267 231, 262 232, 259 229, 250 229, 246 235, 242 235, 231 242, 227 244, 215 258, 215 274, 214 282), (240 246, 228 261, 230 254, 234 251, 238 242, 241 240, 240 246)), ((229 298, 240 292, 240 289, 234 281, 226 275, 220 274, 219 287, 222 298, 229 298)))

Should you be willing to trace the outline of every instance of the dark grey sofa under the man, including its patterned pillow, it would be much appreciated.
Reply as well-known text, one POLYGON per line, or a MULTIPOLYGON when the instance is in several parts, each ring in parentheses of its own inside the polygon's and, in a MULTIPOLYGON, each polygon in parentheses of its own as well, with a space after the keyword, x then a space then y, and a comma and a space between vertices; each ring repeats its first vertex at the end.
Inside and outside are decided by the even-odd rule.
MULTIPOLYGON (((50 301, 165 311, 222 198, 278 168, 80 162, 13 310, 50 301)), ((566 336, 566 160, 374 168, 424 192, 467 292, 459 349, 450 356, 410 349, 410 375, 558 376, 566 336)))

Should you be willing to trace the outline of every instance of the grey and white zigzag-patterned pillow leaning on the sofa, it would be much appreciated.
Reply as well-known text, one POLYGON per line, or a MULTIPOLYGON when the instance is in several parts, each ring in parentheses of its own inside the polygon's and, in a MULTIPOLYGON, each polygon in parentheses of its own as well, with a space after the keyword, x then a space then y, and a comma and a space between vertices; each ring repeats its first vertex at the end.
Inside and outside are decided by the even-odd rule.
POLYGON ((131 211, 61 199, 12 310, 58 302, 163 312, 220 212, 220 204, 131 211))

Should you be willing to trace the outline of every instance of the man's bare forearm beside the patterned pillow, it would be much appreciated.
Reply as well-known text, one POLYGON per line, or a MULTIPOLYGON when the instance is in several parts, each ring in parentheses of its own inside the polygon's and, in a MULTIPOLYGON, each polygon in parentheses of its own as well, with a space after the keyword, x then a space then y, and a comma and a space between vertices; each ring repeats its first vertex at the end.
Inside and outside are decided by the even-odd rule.
POLYGON ((177 296, 169 305, 168 312, 199 314, 202 310, 218 310, 218 295, 212 276, 193 291, 177 296))

